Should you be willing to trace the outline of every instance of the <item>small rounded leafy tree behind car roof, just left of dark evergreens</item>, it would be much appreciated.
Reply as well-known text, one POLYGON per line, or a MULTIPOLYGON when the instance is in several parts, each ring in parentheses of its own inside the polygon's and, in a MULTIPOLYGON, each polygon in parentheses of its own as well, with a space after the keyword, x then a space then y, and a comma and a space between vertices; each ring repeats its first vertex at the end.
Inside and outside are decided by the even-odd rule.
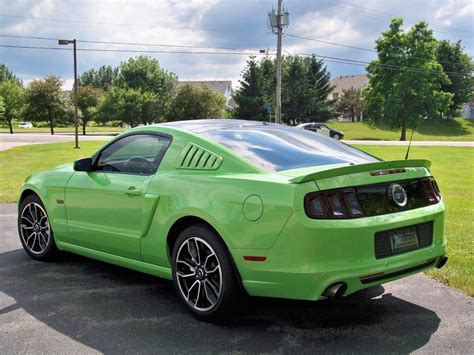
POLYGON ((226 99, 208 87, 181 86, 173 100, 169 118, 173 121, 221 118, 226 99))

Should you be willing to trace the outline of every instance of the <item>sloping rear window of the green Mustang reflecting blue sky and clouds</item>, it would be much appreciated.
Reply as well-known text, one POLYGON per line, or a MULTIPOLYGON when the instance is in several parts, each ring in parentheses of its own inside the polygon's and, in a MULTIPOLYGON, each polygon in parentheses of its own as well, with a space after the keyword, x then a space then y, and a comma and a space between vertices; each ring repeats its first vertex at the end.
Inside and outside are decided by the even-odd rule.
POLYGON ((311 131, 281 125, 202 132, 267 171, 378 161, 356 148, 311 131))

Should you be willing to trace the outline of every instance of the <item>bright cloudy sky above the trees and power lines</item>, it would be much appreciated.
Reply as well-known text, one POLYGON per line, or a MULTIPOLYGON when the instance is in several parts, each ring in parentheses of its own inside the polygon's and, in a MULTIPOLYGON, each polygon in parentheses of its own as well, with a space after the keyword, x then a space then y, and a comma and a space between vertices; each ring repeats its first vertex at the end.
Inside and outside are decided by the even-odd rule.
MULTIPOLYGON (((228 53, 275 49, 276 36, 267 27, 267 12, 275 4, 276 0, 0 0, 0 35, 147 44, 79 42, 79 49, 225 52, 149 55, 181 80, 231 79, 237 85, 248 55, 228 53)), ((287 0, 285 7, 291 17, 287 34, 373 49, 390 18, 401 16, 407 26, 425 20, 437 38, 462 40, 468 53, 474 51, 472 0, 287 0)), ((293 37, 285 37, 283 44, 290 53, 360 61, 375 56, 370 51, 293 37)), ((59 47, 55 40, 4 36, 0 45, 59 47)), ((78 71, 116 66, 134 55, 138 53, 80 51, 78 71)), ((72 82, 70 51, 0 47, 0 63, 25 82, 49 74, 62 76, 66 87, 72 82)), ((353 64, 327 65, 332 76, 364 72, 363 66, 353 64)))

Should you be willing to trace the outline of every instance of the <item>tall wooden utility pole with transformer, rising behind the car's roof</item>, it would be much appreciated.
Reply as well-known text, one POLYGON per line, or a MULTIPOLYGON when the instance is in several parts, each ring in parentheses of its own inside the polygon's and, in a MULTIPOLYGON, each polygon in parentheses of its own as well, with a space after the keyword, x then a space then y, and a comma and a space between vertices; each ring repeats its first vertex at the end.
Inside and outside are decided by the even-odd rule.
POLYGON ((281 47, 283 37, 283 27, 290 24, 290 14, 283 10, 283 0, 278 0, 277 12, 272 10, 269 14, 270 27, 277 35, 277 58, 276 58, 276 107, 275 122, 281 123, 281 47))

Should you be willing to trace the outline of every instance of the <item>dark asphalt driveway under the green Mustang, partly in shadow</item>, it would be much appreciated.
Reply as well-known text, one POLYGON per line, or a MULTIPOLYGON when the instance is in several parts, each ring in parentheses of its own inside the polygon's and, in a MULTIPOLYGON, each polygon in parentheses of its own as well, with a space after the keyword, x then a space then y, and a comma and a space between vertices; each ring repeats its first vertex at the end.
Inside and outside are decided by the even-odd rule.
POLYGON ((255 298, 191 317, 169 281, 71 254, 35 262, 0 204, 0 353, 449 352, 474 349, 473 299, 424 276, 321 302, 255 298))

